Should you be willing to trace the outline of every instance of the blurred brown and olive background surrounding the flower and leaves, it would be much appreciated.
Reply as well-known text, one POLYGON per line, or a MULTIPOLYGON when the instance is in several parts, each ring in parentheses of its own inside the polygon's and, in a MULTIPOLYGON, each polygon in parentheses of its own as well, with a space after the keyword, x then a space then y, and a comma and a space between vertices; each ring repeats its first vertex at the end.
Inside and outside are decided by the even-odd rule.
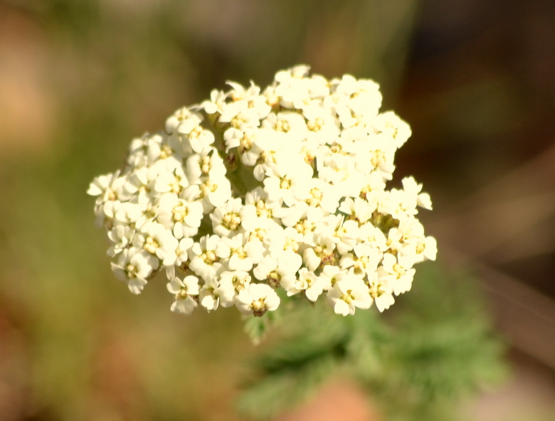
POLYGON ((0 420, 238 419, 239 317, 132 297, 85 191, 177 107, 297 63, 411 124, 396 179, 512 346, 470 415, 555 419, 554 1, 0 0, 0 420))

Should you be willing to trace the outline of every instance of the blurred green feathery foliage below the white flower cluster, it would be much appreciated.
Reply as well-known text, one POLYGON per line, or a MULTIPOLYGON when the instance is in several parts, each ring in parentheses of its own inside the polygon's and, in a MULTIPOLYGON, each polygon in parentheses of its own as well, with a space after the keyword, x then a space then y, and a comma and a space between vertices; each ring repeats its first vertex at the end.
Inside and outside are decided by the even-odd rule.
POLYGON ((458 401, 503 378, 504 347, 476 282, 425 266, 387 319, 377 311, 339 317, 325 304, 297 306, 280 323, 280 341, 255 363, 239 410, 268 419, 329 378, 348 375, 387 420, 458 420, 458 401))

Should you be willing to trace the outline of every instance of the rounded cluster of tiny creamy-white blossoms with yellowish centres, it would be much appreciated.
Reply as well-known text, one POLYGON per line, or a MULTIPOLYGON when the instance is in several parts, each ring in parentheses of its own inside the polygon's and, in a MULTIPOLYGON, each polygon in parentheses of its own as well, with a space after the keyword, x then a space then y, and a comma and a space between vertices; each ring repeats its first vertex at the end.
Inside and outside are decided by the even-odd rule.
POLYGON ((386 190, 408 124, 379 112, 375 82, 308 70, 282 70, 263 91, 213 90, 91 183, 112 270, 131 292, 162 270, 179 313, 262 316, 281 295, 325 296, 346 316, 387 309, 411 289, 413 266, 435 260, 416 218, 430 196, 412 177, 386 190))

